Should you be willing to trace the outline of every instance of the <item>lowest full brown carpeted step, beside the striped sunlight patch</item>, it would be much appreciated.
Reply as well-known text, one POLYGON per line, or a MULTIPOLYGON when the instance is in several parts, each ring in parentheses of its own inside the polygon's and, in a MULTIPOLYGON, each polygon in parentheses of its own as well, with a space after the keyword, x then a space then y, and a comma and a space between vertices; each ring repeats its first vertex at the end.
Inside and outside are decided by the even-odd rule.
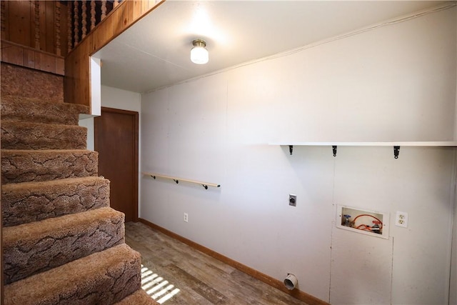
POLYGON ((114 246, 6 285, 4 305, 115 304, 140 289, 140 260, 126 244, 114 246))

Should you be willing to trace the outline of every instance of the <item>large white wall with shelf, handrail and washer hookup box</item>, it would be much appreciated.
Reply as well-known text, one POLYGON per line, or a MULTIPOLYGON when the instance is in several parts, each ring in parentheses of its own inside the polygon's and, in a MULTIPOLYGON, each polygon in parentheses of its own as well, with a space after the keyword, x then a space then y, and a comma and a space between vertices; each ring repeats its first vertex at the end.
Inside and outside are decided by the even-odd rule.
POLYGON ((453 149, 271 146, 448 141, 456 9, 143 94, 141 217, 332 304, 446 304, 453 149), (297 206, 288 206, 288 194, 297 206), (389 239, 335 226, 336 204, 387 212, 389 239), (407 229, 393 226, 396 211, 407 229), (184 212, 189 223, 183 221, 184 212))

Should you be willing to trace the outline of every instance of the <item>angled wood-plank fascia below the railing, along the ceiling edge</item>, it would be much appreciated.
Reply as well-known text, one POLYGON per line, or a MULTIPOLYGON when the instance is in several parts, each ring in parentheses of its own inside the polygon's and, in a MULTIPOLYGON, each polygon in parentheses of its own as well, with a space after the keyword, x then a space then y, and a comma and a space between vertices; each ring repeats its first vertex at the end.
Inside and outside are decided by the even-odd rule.
POLYGON ((65 58, 65 101, 91 106, 90 56, 164 0, 122 1, 65 58))

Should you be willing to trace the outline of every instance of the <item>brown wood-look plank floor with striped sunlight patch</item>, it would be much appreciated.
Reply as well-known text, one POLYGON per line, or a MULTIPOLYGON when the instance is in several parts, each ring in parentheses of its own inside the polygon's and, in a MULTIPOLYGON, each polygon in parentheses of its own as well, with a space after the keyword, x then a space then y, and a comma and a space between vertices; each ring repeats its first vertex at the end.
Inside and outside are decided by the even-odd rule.
POLYGON ((140 222, 126 223, 143 289, 161 304, 305 304, 140 222))

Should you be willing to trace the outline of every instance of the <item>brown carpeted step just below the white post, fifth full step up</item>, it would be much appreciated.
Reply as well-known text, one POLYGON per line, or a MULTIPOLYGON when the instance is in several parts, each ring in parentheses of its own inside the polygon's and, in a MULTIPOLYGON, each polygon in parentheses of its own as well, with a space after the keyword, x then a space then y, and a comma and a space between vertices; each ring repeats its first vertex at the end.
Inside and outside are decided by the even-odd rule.
POLYGON ((86 149, 86 127, 1 120, 1 149, 86 149))

